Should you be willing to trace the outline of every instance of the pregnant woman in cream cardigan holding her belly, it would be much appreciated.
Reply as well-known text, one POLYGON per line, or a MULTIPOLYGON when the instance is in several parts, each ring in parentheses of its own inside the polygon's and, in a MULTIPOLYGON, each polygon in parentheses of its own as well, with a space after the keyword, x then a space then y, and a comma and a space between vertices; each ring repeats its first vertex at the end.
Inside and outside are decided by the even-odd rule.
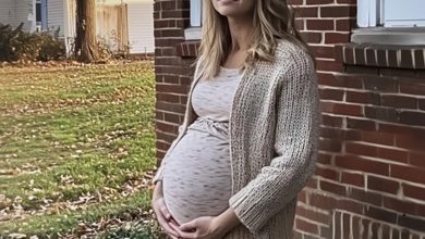
POLYGON ((171 238, 291 238, 318 126, 287 1, 205 0, 184 121, 154 178, 158 223, 171 238))

